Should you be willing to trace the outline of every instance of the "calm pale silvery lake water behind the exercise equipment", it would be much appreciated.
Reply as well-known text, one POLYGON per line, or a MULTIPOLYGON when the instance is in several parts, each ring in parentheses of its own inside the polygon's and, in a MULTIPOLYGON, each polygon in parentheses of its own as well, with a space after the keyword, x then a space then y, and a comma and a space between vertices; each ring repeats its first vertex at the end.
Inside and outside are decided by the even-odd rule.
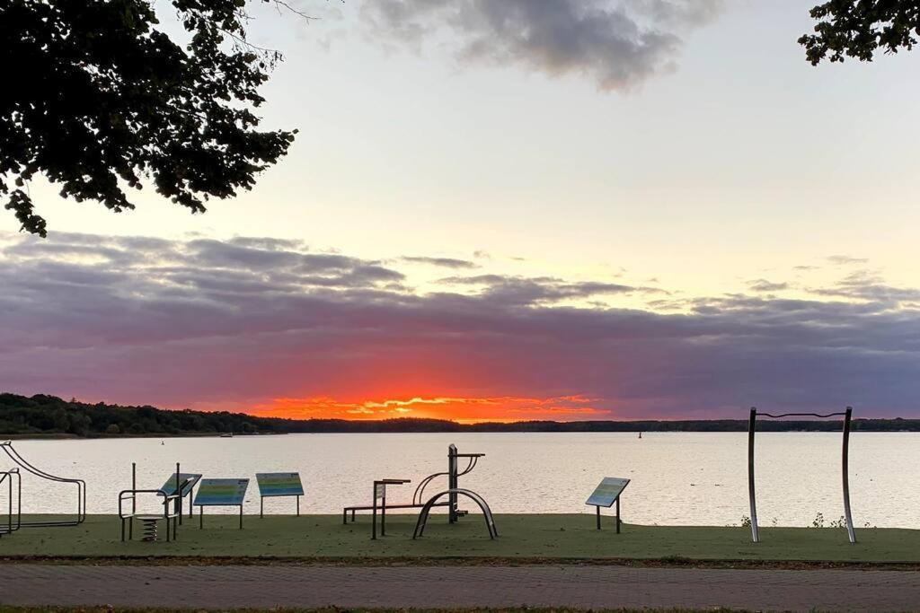
MULTIPOLYGON (((815 514, 843 515, 841 436, 830 433, 757 435, 758 517, 762 526, 805 526, 815 514)), ((369 503, 375 478, 418 482, 446 469, 449 443, 482 452, 461 485, 485 496, 496 513, 591 513, 584 501, 604 476, 632 483, 623 516, 642 524, 726 525, 748 515, 746 433, 635 434, 375 434, 234 438, 134 438, 17 441, 40 469, 85 479, 90 513, 114 513, 119 491, 158 487, 174 470, 210 477, 248 477, 247 513, 259 512, 257 471, 300 471, 305 513, 340 513, 369 503)), ((854 433, 850 449, 854 521, 920 528, 920 434, 854 433)), ((0 454, 0 468, 6 468, 0 454)), ((440 483, 443 484, 442 479, 440 483)), ((23 479, 23 509, 69 511, 71 489, 23 479)), ((431 494, 435 490, 432 485, 431 494)), ((403 490, 402 492, 399 489, 403 490)), ((390 500, 411 498, 414 484, 390 500)), ((6 486, 0 502, 6 501, 6 486)), ((209 512, 220 512, 218 509, 209 512)), ((228 511, 229 512, 229 511, 228 511)), ((292 499, 266 502, 266 512, 293 512, 292 499)))

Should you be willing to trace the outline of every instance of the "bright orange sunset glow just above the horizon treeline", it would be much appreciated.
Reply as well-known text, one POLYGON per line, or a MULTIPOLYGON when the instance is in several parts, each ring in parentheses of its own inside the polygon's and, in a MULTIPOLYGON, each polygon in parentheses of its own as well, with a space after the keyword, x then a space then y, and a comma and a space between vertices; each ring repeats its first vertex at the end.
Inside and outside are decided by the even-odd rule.
POLYGON ((570 421, 610 419, 610 411, 593 406, 596 401, 581 395, 553 398, 519 396, 454 397, 411 396, 354 402, 328 396, 280 397, 252 407, 252 414, 290 419, 447 419, 464 424, 531 420, 570 421))

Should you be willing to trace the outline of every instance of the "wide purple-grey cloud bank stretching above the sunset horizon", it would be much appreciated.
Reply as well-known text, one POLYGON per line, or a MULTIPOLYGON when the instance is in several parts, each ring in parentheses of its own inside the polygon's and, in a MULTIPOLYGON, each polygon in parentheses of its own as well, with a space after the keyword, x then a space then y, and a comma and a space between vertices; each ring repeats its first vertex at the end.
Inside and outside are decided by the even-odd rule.
POLYGON ((457 277, 419 295, 377 262, 290 244, 3 244, 0 390, 245 407, 434 386, 458 397, 581 395, 596 417, 845 404, 918 414, 920 290, 870 273, 826 289, 834 295, 734 294, 652 311, 586 304, 640 288, 548 277, 457 277), (98 255, 61 259, 86 244, 98 255), (305 264, 312 256, 339 259, 305 264), (580 306, 561 306, 571 299, 580 306))

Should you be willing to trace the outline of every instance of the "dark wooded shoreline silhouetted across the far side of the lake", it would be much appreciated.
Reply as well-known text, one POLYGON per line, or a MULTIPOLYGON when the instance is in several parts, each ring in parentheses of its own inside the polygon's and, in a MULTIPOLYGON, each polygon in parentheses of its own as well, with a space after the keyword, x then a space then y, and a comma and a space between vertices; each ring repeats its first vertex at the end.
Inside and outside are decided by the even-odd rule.
MULTIPOLYGON (((746 411, 739 411, 747 414, 746 411)), ((56 396, 32 397, 0 393, 0 436, 181 436, 236 434, 294 434, 308 432, 739 432, 747 419, 683 421, 530 421, 511 424, 458 424, 441 419, 282 419, 242 413, 173 411, 153 406, 78 403, 56 396)), ((764 432, 840 430, 839 421, 758 420, 764 432)), ((920 419, 856 419, 854 430, 866 432, 920 431, 920 419)))

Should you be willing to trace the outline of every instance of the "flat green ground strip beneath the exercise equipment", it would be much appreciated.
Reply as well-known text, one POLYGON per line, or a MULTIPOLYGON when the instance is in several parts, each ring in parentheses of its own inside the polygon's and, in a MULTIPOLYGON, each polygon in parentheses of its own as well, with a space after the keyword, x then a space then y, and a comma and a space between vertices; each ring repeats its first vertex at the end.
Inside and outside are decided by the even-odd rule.
MULTIPOLYGON (((489 540, 481 516, 450 526, 432 516, 425 536, 412 540, 415 517, 391 515, 386 537, 370 539, 370 517, 343 526, 340 516, 186 519, 177 542, 122 543, 117 517, 90 516, 75 528, 23 528, 0 539, 0 557, 48 558, 275 558, 302 561, 486 562, 646 560, 920 563, 920 530, 857 530, 851 545, 842 528, 761 528, 751 542, 748 528, 624 525, 615 534, 613 519, 594 529, 591 515, 501 515, 500 537, 489 540)), ((140 533, 135 525, 135 536, 140 533)))

